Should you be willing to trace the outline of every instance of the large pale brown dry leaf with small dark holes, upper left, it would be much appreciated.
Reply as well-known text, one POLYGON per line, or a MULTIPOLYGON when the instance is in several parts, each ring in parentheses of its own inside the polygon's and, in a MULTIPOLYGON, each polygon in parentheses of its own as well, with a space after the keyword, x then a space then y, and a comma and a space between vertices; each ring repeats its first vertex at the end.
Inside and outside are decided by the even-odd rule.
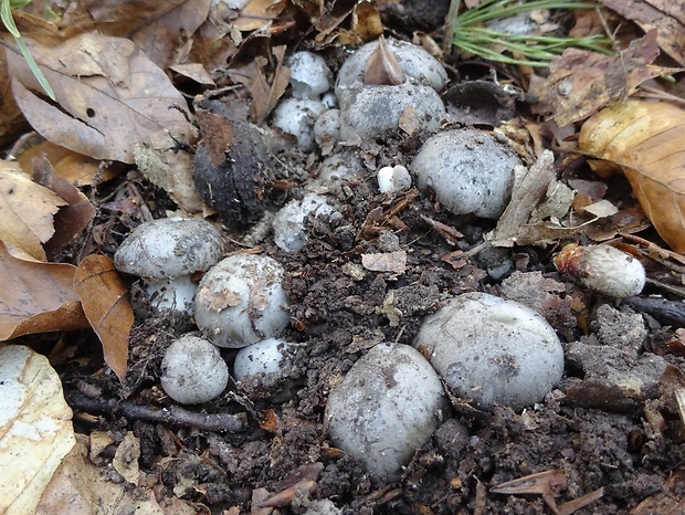
POLYGON ((168 134, 165 147, 193 139, 193 127, 172 108, 186 99, 133 42, 96 33, 57 46, 27 40, 52 85, 59 107, 40 91, 25 60, 8 52, 12 92, 29 123, 46 139, 96 159, 134 162, 136 144, 168 134))

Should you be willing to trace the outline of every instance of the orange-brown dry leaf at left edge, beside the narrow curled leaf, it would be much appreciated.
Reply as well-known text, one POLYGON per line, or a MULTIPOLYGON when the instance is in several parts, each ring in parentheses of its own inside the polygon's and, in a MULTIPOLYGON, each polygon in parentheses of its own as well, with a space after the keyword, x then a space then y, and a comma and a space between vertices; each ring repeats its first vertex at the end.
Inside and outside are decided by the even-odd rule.
POLYGON ((0 340, 88 327, 73 288, 75 271, 71 264, 19 260, 0 241, 0 340))

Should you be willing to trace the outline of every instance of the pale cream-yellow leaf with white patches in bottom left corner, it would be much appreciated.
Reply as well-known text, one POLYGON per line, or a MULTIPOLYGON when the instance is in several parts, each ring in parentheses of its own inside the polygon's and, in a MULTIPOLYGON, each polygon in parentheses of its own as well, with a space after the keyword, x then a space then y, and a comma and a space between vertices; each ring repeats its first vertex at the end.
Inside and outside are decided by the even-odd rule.
POLYGON ((34 513, 76 441, 72 410, 64 401, 60 376, 45 356, 29 347, 0 345, 0 509, 34 513))

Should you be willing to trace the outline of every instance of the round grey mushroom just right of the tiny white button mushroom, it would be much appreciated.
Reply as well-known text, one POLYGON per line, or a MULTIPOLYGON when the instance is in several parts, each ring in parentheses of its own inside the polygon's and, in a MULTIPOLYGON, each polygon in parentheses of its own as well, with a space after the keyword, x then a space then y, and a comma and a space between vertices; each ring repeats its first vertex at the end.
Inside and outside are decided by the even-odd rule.
POLYGON ((520 160, 506 145, 481 130, 431 136, 411 164, 417 187, 454 214, 498 218, 514 187, 520 160))

